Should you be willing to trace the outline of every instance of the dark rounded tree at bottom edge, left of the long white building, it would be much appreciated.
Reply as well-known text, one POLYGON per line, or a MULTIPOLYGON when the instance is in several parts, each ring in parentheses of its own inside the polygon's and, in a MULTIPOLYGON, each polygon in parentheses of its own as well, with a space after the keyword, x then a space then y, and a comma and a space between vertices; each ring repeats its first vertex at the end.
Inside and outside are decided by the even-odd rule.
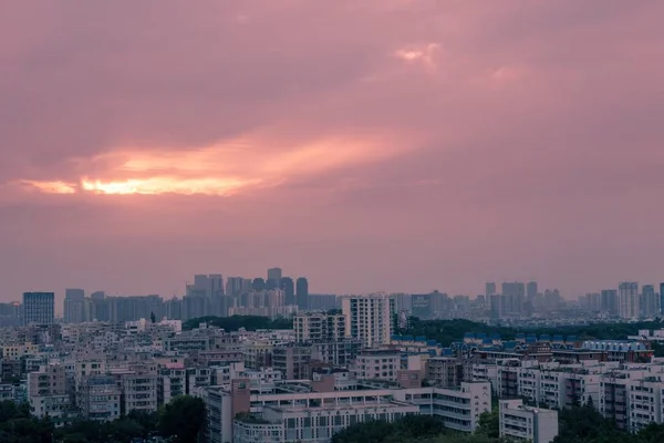
POLYGON ((165 437, 174 437, 175 443, 198 441, 205 423, 205 403, 190 395, 176 396, 159 411, 157 429, 165 437))

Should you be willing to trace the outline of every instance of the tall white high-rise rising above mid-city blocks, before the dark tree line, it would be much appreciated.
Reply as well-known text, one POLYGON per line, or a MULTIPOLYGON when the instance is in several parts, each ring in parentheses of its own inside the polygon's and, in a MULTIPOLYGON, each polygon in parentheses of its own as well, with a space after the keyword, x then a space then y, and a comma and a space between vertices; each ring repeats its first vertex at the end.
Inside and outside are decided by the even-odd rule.
POLYGON ((362 341, 367 348, 388 344, 394 328, 394 298, 385 293, 349 296, 341 309, 346 318, 345 336, 362 341))

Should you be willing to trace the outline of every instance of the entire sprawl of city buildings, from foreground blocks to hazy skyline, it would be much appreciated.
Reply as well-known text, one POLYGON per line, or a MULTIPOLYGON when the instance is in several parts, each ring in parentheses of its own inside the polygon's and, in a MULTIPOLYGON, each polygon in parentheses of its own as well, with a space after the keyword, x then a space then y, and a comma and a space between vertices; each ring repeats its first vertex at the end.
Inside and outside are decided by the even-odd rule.
MULTIPOLYGON (((631 313, 642 312, 650 288, 621 284, 615 300, 600 295, 600 308, 616 306, 620 316, 626 303, 631 313)), ((470 332, 448 346, 395 334, 408 316, 560 309, 560 295, 540 295, 537 284, 501 289, 496 295, 489 284, 475 300, 434 291, 312 302, 305 279, 273 268, 267 279, 226 284, 220 275, 196 276, 179 311, 157 296, 86 297, 70 289, 64 321, 54 319, 52 292, 27 292, 22 303, 0 307, 0 318, 20 317, 0 328, 0 400, 28 402, 35 416, 62 423, 155 412, 177 395, 195 395, 206 403, 211 443, 326 442, 354 423, 411 414, 473 432, 492 398, 501 435, 538 443, 557 435, 557 411, 577 404, 596 408, 625 431, 664 423, 664 361, 650 346, 664 341, 664 330, 613 341, 470 332), (184 319, 217 315, 219 300, 224 315, 291 317, 293 327, 183 330, 184 319), (319 305, 324 309, 312 308, 319 305)), ((587 299, 596 305, 594 296, 587 299)))

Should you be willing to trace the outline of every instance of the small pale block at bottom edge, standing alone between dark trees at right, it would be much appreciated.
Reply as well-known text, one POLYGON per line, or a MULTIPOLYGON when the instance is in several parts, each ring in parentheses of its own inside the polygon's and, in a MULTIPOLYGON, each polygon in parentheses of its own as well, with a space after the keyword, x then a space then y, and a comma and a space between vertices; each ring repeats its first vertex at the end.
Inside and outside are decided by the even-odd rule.
POLYGON ((551 443, 558 435, 558 411, 500 400, 500 436, 532 443, 551 443))

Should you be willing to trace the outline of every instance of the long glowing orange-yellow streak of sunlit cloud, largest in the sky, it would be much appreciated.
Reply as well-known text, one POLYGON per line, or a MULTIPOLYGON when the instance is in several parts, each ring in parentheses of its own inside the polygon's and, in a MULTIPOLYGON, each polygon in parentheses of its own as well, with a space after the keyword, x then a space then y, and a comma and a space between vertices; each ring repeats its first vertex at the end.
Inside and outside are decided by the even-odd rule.
POLYGON ((239 138, 196 150, 123 148, 80 161, 82 171, 98 171, 64 182, 25 181, 48 194, 218 195, 277 186, 290 178, 380 161, 405 150, 397 137, 329 137, 293 147, 286 142, 266 150, 268 138, 239 138))

